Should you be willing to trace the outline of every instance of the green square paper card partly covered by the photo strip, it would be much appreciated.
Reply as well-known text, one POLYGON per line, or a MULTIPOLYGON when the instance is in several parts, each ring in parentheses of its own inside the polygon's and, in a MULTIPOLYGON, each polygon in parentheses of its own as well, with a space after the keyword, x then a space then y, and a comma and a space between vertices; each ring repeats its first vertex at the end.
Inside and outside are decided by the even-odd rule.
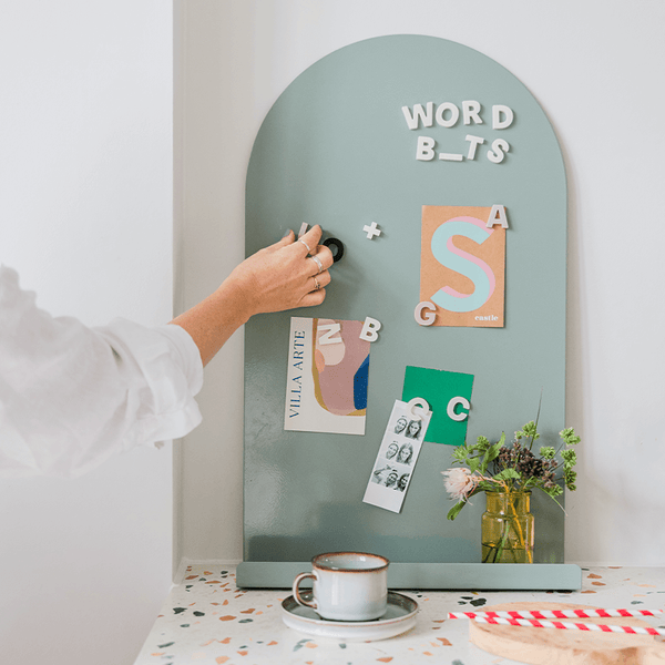
MULTIPOLYGON (((467 422, 453 420, 448 415, 450 400, 463 397, 471 402, 473 389, 473 375, 442 369, 428 369, 426 367, 407 366, 402 401, 415 397, 427 400, 432 410, 432 419, 424 437, 430 443, 446 443, 461 446, 467 439, 467 422)), ((454 402, 453 402, 454 403, 454 402)), ((453 408, 456 415, 466 412, 461 405, 453 408)))

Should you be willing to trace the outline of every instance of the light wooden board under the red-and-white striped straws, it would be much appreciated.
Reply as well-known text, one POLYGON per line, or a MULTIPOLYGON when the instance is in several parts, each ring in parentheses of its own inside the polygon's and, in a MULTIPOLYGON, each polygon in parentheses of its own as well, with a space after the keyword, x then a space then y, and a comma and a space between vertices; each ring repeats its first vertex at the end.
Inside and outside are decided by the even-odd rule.
MULTIPOLYGON (((590 605, 564 603, 505 603, 483 607, 483 612, 520 610, 596 610, 590 605)), ((562 620, 575 623, 621 624, 647 627, 636 617, 562 620)), ((533 665, 665 665, 665 645, 651 635, 585 633, 556 628, 499 626, 474 621, 469 640, 478 647, 533 665)))

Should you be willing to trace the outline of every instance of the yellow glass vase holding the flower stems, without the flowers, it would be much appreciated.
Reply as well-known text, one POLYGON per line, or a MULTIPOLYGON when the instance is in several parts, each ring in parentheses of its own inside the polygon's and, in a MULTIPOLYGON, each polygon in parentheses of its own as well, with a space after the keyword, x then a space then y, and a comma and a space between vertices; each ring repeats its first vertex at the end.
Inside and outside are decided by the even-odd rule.
POLYGON ((482 515, 483 563, 533 563, 534 520, 531 492, 485 492, 482 515))

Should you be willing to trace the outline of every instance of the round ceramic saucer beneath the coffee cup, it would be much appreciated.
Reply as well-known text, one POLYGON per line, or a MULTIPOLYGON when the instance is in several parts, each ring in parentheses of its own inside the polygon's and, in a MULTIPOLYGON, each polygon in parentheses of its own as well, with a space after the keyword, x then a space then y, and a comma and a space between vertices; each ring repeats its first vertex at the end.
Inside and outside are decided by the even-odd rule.
MULTIPOLYGON (((303 593, 311 600, 311 592, 303 593)), ((375 621, 328 621, 314 610, 299 605, 294 596, 282 603, 282 618, 289 627, 317 637, 334 637, 346 642, 372 642, 401 635, 416 625, 418 603, 401 593, 388 592, 388 611, 375 621)))

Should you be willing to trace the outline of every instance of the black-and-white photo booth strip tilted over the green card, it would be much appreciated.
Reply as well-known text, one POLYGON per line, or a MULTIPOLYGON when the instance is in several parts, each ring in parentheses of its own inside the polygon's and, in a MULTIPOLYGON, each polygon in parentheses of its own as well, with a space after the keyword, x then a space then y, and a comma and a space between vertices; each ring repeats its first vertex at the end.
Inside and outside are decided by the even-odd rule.
POLYGON ((362 501, 400 512, 432 413, 397 400, 362 501))

